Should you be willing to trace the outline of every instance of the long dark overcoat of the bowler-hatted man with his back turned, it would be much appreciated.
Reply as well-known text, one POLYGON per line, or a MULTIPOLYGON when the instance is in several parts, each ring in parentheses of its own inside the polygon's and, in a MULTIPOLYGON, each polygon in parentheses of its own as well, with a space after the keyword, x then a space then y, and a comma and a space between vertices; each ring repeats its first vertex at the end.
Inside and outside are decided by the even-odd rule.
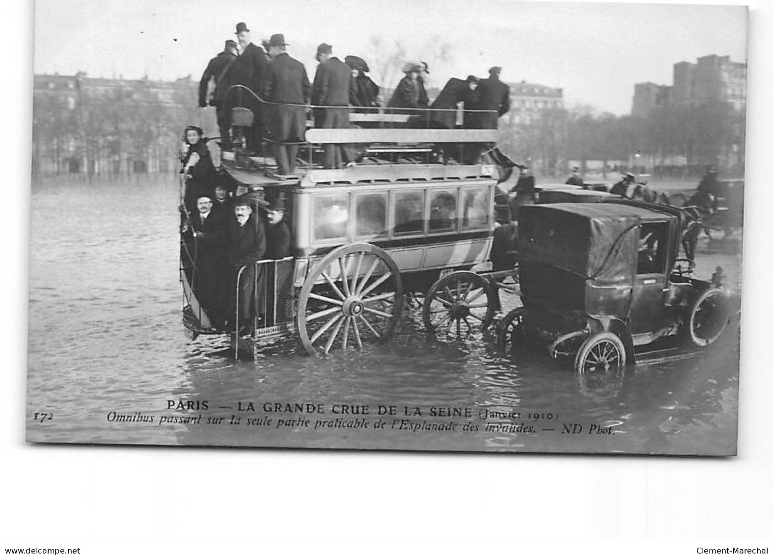
POLYGON ((271 103, 269 128, 275 142, 303 140, 306 132, 306 109, 312 93, 305 66, 287 52, 281 52, 266 66, 263 97, 271 103), (281 104, 295 106, 281 106, 281 104))

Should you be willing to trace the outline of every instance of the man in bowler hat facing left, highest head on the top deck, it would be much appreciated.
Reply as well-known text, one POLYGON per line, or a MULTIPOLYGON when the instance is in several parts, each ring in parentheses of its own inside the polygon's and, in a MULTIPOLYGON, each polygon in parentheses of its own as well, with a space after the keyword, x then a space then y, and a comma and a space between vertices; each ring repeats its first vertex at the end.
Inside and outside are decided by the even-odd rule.
MULTIPOLYGON (((248 86, 254 93, 260 94, 259 91, 261 90, 264 73, 268 65, 266 52, 252 42, 250 29, 247 29, 246 23, 237 23, 236 36, 241 52, 237 62, 239 65, 239 84, 248 86)), ((250 108, 254 115, 250 133, 247 134, 247 150, 263 154, 261 152, 261 140, 263 140, 264 136, 264 107, 249 93, 241 93, 241 98, 243 105, 250 108)))

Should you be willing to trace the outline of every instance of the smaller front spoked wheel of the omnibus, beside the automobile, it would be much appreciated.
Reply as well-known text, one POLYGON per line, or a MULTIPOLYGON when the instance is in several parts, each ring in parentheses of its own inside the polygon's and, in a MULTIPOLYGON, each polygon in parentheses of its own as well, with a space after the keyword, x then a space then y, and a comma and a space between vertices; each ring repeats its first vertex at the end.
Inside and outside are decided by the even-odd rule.
POLYGON ((475 272, 448 274, 431 286, 422 316, 428 332, 467 333, 483 330, 494 318, 495 293, 475 272))

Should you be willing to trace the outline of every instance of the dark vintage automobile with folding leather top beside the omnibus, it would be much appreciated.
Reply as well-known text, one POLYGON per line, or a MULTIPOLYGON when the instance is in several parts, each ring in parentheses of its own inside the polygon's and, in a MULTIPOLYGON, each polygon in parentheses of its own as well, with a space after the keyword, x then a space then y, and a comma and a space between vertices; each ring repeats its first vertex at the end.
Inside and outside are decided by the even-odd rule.
POLYGON ((730 319, 721 272, 691 276, 677 258, 681 211, 640 201, 531 205, 519 222, 523 306, 499 324, 502 343, 541 344, 580 374, 618 372, 638 347, 682 334, 717 340, 730 319))

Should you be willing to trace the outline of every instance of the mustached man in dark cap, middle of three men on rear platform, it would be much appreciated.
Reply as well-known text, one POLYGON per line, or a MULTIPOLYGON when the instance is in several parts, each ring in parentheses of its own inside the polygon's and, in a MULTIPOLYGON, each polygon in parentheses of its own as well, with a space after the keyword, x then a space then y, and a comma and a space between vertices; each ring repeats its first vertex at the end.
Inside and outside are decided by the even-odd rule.
POLYGON ((265 299, 258 298, 257 303, 255 299, 256 292, 262 290, 263 266, 256 267, 255 262, 264 259, 266 233, 263 222, 258 218, 257 212, 253 211, 247 195, 234 200, 233 212, 235 218, 230 222, 226 245, 226 262, 232 276, 226 318, 232 320, 238 310, 237 322, 232 320, 231 327, 240 333, 251 333, 254 317, 264 313, 265 299), (239 276, 242 268, 244 270, 239 276))

